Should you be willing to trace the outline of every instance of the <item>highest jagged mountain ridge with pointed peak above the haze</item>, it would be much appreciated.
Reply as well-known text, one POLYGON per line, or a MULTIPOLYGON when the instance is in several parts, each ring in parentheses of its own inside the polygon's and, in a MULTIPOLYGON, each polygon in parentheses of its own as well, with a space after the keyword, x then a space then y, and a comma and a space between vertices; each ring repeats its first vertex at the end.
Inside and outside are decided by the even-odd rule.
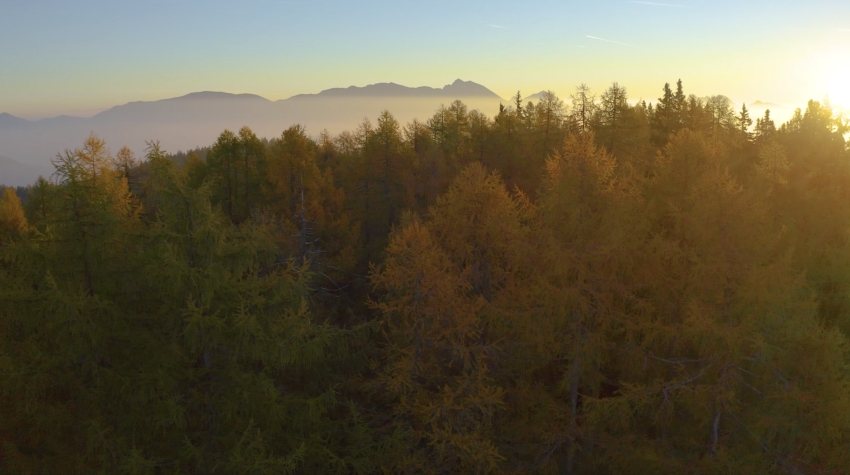
POLYGON ((490 97, 501 99, 496 93, 481 84, 456 79, 453 83, 442 88, 428 86, 408 87, 394 82, 380 82, 368 86, 349 86, 325 89, 318 94, 298 94, 291 99, 309 99, 319 97, 446 97, 459 99, 463 97, 490 97))

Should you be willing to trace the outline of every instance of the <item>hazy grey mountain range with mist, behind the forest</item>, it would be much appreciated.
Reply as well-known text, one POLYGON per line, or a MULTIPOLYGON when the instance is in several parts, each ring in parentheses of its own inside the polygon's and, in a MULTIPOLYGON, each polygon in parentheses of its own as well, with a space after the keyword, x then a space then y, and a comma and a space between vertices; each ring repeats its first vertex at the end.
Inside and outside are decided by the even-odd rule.
POLYGON ((404 124, 414 118, 425 120, 441 104, 455 99, 488 115, 505 102, 480 84, 458 79, 442 88, 378 83, 279 101, 255 94, 204 91, 130 102, 90 118, 63 115, 30 121, 0 113, 0 184, 32 183, 51 170, 50 158, 80 147, 90 133, 106 140, 113 152, 126 145, 141 156, 147 141, 158 140, 163 149, 176 152, 211 145, 223 130, 237 131, 242 126, 269 138, 294 124, 305 126, 313 135, 322 130, 335 134, 356 128, 364 118, 374 120, 384 109, 404 124))

